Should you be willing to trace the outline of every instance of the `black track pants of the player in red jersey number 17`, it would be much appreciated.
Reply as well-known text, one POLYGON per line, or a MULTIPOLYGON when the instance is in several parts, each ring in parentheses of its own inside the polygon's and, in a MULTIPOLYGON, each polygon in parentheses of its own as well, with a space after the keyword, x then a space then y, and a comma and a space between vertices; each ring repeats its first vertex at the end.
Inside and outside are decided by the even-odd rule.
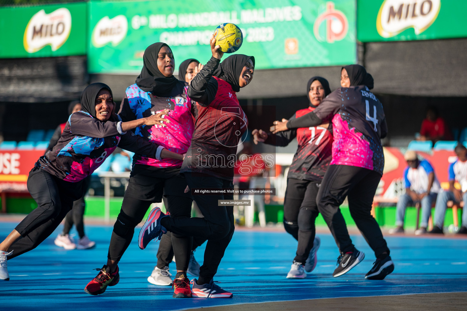
POLYGON ((315 239, 315 220, 318 217, 316 196, 319 183, 310 180, 287 179, 284 198, 284 228, 297 241, 294 261, 305 264, 315 239))

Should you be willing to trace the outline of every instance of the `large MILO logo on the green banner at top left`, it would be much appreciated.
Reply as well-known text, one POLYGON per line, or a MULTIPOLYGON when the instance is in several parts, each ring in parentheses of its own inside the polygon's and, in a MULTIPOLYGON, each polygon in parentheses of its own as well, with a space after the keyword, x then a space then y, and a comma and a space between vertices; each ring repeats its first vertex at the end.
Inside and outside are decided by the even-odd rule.
POLYGON ((24 49, 34 53, 50 45, 52 51, 56 51, 66 42, 70 31, 71 13, 67 8, 59 8, 50 14, 45 14, 42 9, 31 17, 26 26, 24 49))

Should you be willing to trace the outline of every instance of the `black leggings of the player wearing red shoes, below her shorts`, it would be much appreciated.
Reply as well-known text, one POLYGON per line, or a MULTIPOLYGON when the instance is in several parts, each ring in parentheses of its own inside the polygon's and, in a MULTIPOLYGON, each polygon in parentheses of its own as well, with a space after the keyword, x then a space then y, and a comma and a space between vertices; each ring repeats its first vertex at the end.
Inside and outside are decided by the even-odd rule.
MULTIPOLYGON (((167 209, 170 212, 170 218, 190 218, 191 202, 192 200, 187 197, 167 195, 167 209)), ((134 227, 142 221, 151 203, 151 201, 123 198, 120 214, 113 227, 110 240, 107 256, 109 259, 120 260, 133 238, 134 227)), ((190 262, 190 252, 187 250, 191 249, 192 238, 186 235, 172 234, 170 242, 175 254, 181 254, 180 258, 176 258, 177 270, 186 271, 190 262)))

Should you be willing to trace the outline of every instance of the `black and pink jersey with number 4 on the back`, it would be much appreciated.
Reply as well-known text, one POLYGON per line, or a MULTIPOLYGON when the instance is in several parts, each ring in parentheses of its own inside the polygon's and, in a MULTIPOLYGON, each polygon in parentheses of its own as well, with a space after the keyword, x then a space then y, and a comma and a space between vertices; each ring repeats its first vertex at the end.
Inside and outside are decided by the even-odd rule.
POLYGON ((333 122, 331 164, 358 166, 382 174, 381 138, 388 127, 381 102, 367 86, 339 88, 304 117, 288 122, 288 128, 333 122))

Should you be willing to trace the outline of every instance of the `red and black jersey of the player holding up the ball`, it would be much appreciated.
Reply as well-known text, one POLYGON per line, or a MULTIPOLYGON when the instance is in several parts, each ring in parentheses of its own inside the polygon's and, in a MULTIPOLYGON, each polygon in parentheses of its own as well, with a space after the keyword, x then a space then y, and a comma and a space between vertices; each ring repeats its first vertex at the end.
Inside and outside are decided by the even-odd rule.
POLYGON ((218 66, 219 60, 212 57, 188 88, 188 96, 197 102, 197 117, 180 172, 233 180, 235 153, 248 119, 232 86, 212 76, 218 66))

